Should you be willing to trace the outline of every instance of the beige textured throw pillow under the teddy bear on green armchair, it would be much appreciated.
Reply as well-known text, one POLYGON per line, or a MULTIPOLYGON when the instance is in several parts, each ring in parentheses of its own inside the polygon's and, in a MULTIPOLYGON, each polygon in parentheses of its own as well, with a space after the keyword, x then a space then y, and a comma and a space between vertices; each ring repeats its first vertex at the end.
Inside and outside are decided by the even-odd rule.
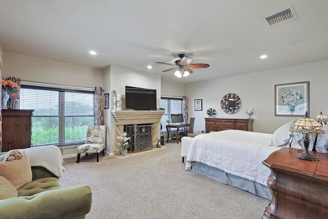
POLYGON ((26 152, 20 160, 0 162, 0 176, 5 177, 16 189, 32 182, 30 159, 26 152))

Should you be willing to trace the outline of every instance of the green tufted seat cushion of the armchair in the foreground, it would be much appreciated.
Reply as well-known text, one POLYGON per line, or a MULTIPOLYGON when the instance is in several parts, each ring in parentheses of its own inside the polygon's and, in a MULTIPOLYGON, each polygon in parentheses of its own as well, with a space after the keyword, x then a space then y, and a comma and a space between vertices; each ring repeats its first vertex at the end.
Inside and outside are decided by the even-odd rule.
POLYGON ((20 187, 17 192, 18 196, 30 196, 43 191, 60 188, 63 188, 63 185, 60 183, 57 177, 47 177, 33 180, 31 183, 20 187))

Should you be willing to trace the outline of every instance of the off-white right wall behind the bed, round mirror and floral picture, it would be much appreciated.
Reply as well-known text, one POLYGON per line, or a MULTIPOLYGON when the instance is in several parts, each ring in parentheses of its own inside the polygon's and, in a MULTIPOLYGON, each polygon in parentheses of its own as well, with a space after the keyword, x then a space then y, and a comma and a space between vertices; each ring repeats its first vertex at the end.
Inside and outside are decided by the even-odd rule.
POLYGON ((310 82, 310 116, 328 114, 328 60, 297 66, 253 72, 187 85, 189 117, 196 117, 194 130, 205 130, 206 110, 214 108, 218 118, 247 118, 245 109, 254 108, 254 131, 273 133, 281 125, 298 116, 275 116, 275 85, 310 82), (222 111, 224 95, 235 93, 241 108, 235 114, 222 111), (202 99, 203 110, 194 111, 194 99, 202 99), (192 110, 190 110, 192 109, 192 110))

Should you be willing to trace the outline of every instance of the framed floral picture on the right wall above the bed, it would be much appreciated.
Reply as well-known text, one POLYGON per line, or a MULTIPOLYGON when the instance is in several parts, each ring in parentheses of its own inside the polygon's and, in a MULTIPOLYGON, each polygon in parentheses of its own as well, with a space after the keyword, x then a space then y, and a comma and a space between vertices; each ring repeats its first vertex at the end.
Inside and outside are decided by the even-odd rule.
POLYGON ((275 115, 310 115, 309 82, 275 85, 275 107, 275 115))

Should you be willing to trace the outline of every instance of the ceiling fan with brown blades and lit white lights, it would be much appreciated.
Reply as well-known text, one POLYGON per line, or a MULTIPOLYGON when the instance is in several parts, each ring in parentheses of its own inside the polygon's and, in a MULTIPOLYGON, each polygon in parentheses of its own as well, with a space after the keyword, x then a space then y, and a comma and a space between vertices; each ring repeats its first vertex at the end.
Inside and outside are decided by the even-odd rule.
POLYGON ((163 65, 169 65, 169 66, 175 66, 174 68, 170 68, 170 69, 164 70, 162 72, 176 70, 174 75, 177 77, 182 77, 182 75, 187 77, 189 74, 193 73, 191 68, 208 68, 208 67, 210 67, 209 64, 190 64, 191 61, 193 61, 193 59, 192 59, 192 57, 185 56, 185 54, 179 54, 179 58, 180 59, 175 61, 174 64, 161 63, 161 62, 156 62, 156 63, 163 64, 163 65))

